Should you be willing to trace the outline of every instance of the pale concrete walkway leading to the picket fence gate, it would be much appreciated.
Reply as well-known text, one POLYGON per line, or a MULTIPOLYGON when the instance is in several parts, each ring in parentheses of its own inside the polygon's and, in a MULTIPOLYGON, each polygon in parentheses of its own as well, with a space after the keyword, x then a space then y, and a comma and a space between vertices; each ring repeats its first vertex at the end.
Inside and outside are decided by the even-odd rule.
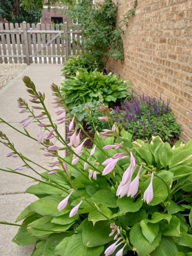
MULTIPOLYGON (((6 64, 5 64, 6 65, 6 64)), ((26 86, 22 81, 22 77, 27 75, 34 82, 37 91, 45 92, 46 99, 45 104, 52 115, 54 115, 55 109, 52 108, 50 103, 52 100, 50 85, 55 83, 60 85, 63 77, 61 76, 62 65, 52 64, 32 64, 28 66, 23 72, 21 72, 15 79, 13 79, 9 85, 0 91, 0 116, 5 121, 9 122, 12 126, 15 126, 18 130, 24 131, 20 120, 27 117, 27 113, 18 113, 20 109, 17 108, 17 99, 22 97, 25 100, 29 100, 29 94, 26 91, 26 86)), ((35 111, 34 111, 35 112, 35 111)), ((39 110, 35 113, 40 113, 39 110)), ((53 117, 55 120, 55 116, 53 117)), ((39 127, 36 123, 31 123, 26 127, 29 134, 37 138, 37 132, 39 127)), ((64 126, 60 126, 62 133, 65 133, 64 126)), ((0 123, 0 130, 9 137, 10 141, 14 143, 15 148, 18 149, 23 155, 29 157, 35 162, 47 167, 45 162, 50 161, 43 156, 43 151, 39 150, 40 145, 36 141, 29 139, 26 136, 16 132, 4 123, 0 123)), ((10 152, 9 148, 0 144, 0 162, 1 168, 6 167, 15 168, 22 165, 22 161, 13 157, 6 157, 6 154, 10 152)), ((40 168, 35 170, 43 172, 40 168)), ((37 175, 29 169, 23 171, 27 175, 37 177, 37 175)), ((7 173, 1 171, 0 179, 0 220, 15 223, 16 217, 19 213, 25 209, 25 207, 37 198, 34 195, 24 194, 25 190, 33 185, 29 178, 7 173)), ((38 176, 39 178, 39 176, 38 176)), ((19 222, 18 224, 22 223, 19 222)), ((0 224, 0 255, 8 256, 30 256, 32 254, 34 244, 30 246, 18 246, 11 240, 16 235, 18 227, 6 226, 0 224)))

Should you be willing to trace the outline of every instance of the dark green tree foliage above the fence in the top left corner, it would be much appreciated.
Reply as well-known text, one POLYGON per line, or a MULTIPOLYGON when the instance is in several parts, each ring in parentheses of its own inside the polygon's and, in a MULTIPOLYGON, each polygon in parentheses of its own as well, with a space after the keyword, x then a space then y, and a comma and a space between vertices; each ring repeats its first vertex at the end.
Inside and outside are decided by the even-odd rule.
POLYGON ((30 10, 26 11, 25 6, 21 6, 19 0, 2 0, 0 2, 0 13, 2 18, 5 18, 8 22, 38 23, 42 16, 42 11, 37 8, 38 2, 32 1, 30 10))

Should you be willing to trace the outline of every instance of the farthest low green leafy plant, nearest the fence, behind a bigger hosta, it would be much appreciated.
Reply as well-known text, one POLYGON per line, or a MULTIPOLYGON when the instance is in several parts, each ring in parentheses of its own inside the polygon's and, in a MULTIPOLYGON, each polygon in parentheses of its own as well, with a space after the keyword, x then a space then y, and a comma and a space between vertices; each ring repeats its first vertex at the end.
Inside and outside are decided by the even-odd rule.
POLYGON ((61 71, 66 78, 69 78, 74 77, 80 68, 86 69, 88 72, 90 72, 91 69, 94 70, 97 68, 97 64, 92 63, 89 59, 87 59, 86 55, 77 56, 75 58, 69 58, 66 62, 64 62, 61 71))

